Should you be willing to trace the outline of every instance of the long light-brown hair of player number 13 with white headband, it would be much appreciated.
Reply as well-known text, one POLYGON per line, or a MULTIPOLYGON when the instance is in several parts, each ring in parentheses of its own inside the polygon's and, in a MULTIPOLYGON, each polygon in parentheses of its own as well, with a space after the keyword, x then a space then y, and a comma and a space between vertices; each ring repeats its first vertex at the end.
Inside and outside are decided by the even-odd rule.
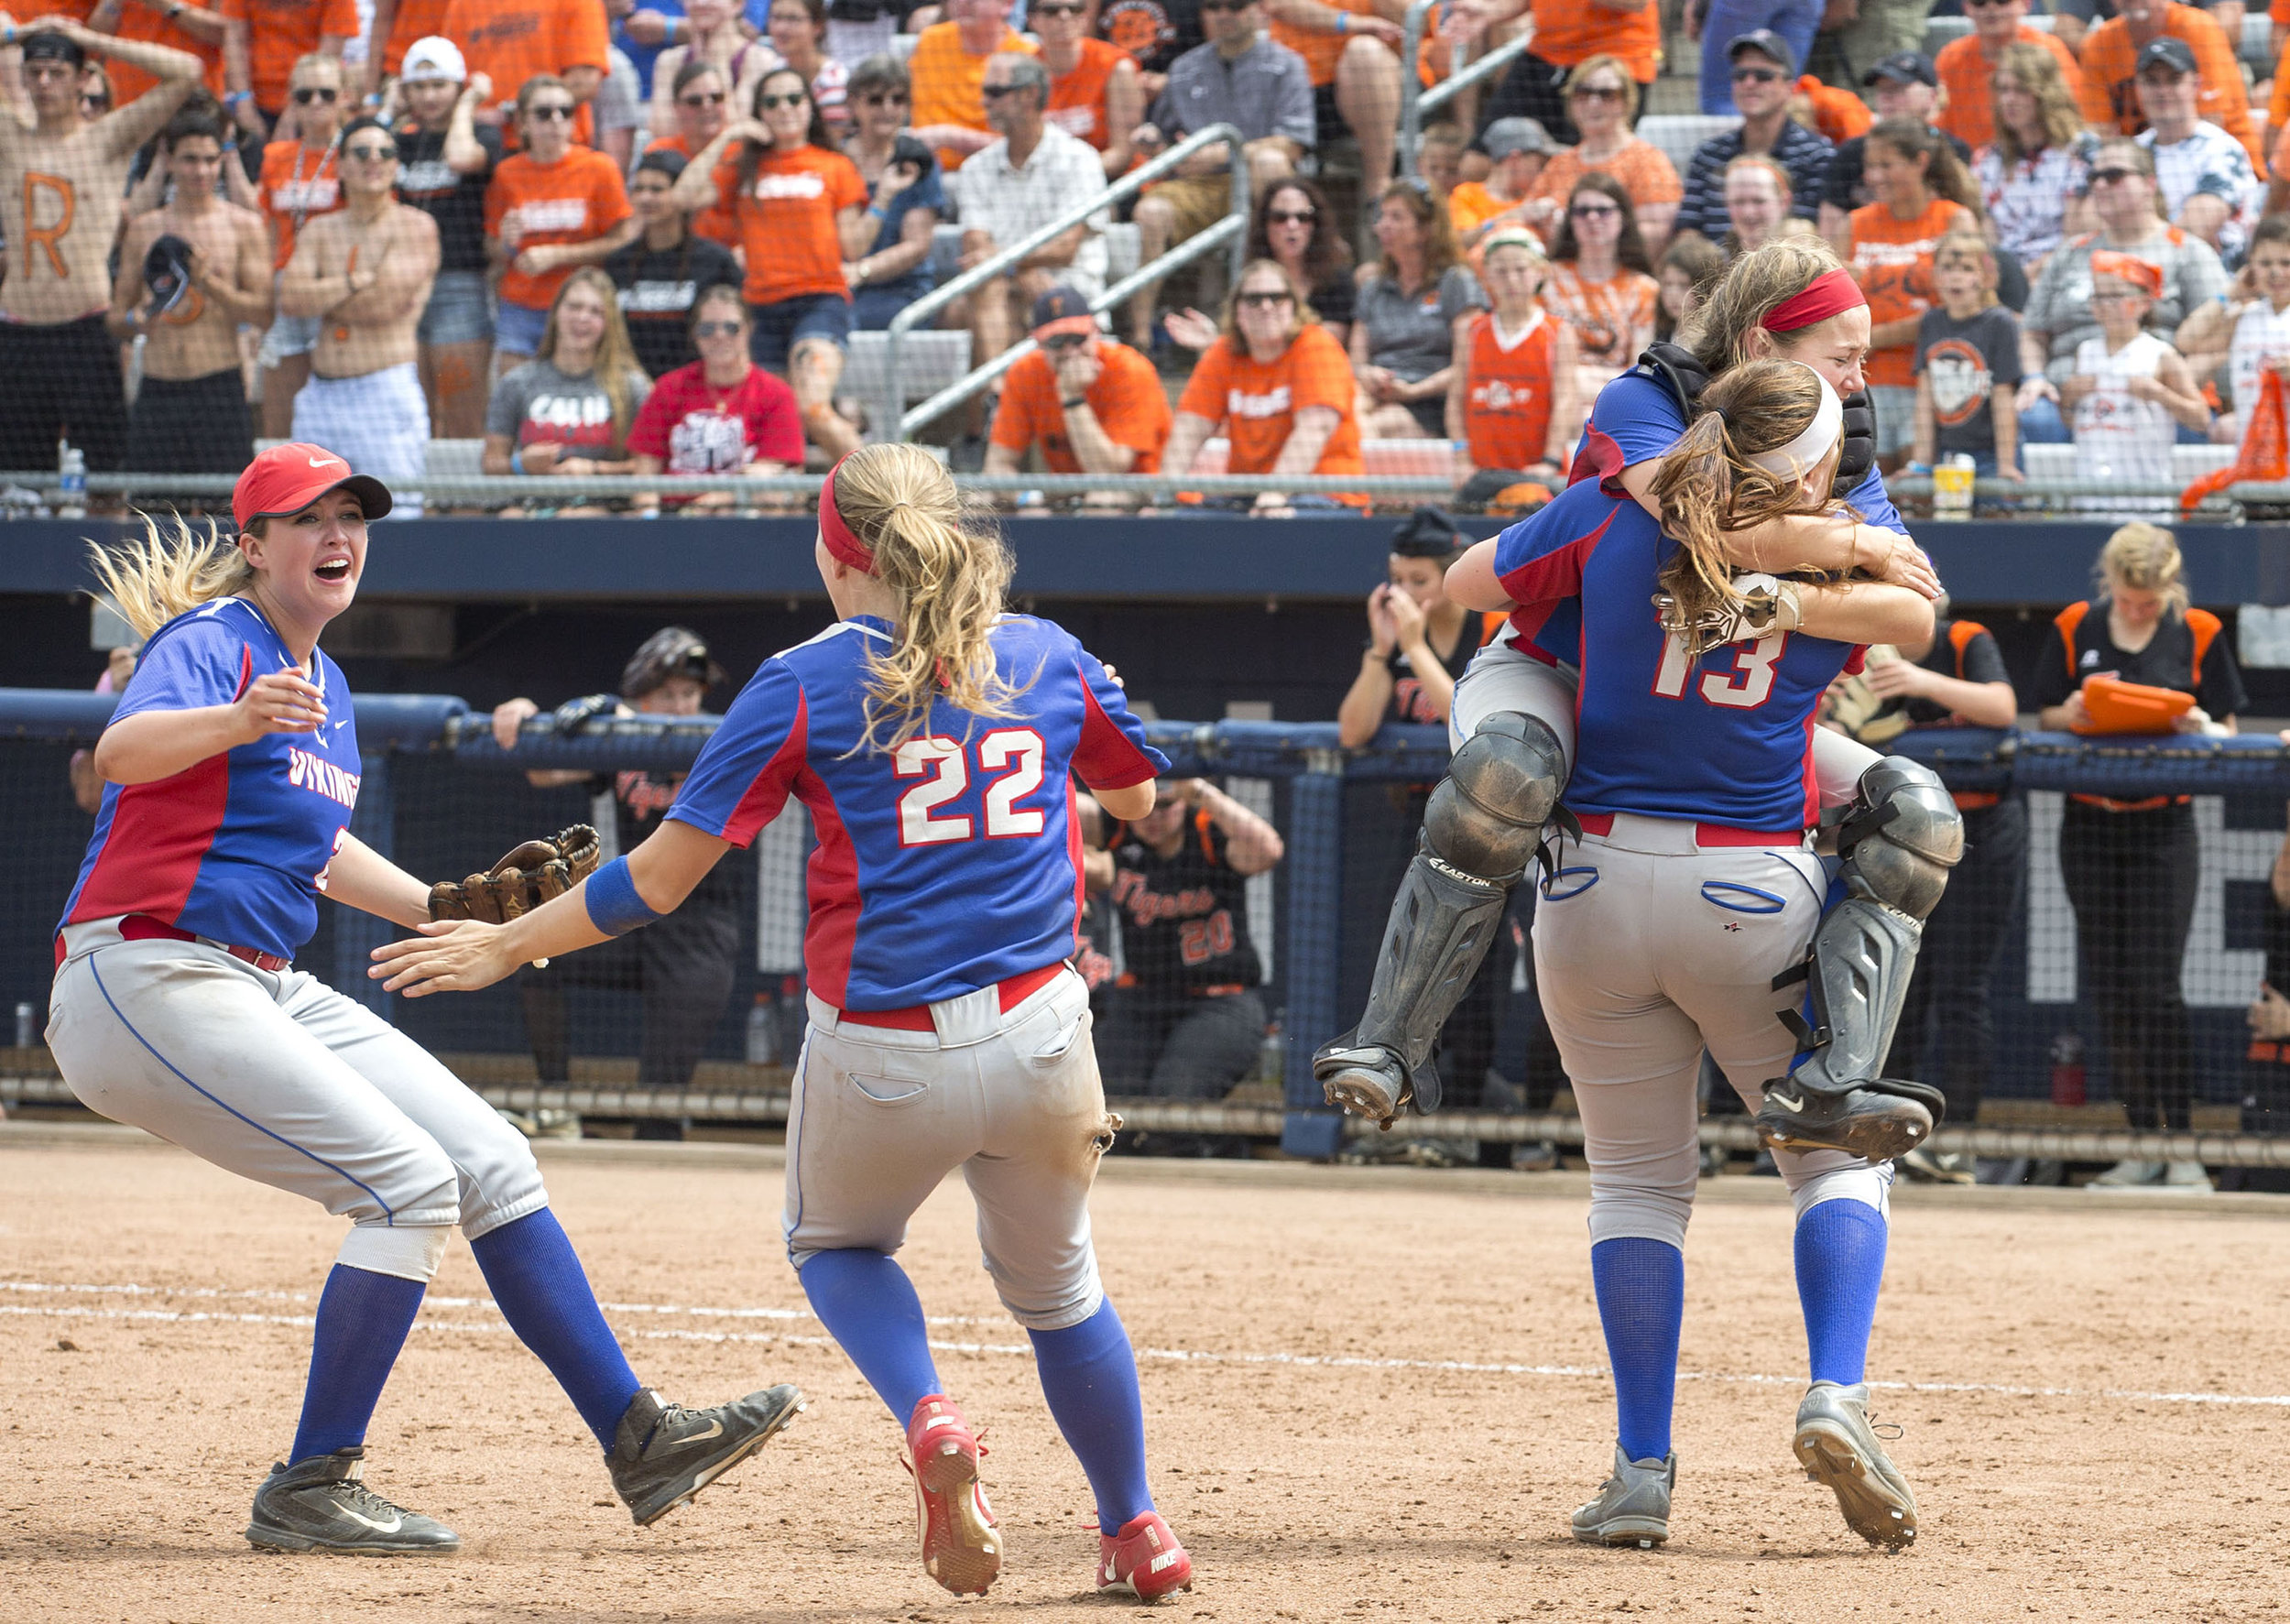
MULTIPOLYGON (((1750 362, 1713 383, 1706 408, 1663 458, 1653 476, 1653 499, 1663 529, 1681 545, 1660 570, 1663 591, 1679 600, 1688 625, 1708 625, 1722 609, 1743 605, 1734 586, 1734 563, 1724 534, 1763 525, 1784 513, 1830 511, 1837 502, 1807 509, 1795 479, 1768 474, 1750 463, 1795 440, 1821 410, 1821 378, 1798 362, 1750 362)), ((1823 458, 1823 470, 1834 463, 1823 458)), ((1816 481, 1827 490, 1827 472, 1816 481)), ((1690 653, 1704 653, 1692 648, 1690 653)))

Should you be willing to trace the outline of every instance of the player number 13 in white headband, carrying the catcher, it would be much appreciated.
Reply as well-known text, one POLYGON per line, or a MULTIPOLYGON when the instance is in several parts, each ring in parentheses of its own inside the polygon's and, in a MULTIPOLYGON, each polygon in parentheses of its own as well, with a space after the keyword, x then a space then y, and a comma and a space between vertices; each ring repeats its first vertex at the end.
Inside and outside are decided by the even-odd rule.
MULTIPOLYGON (((1566 809, 1580 834, 1562 838, 1543 880, 1534 969, 1582 1113, 1592 1280, 1614 1370, 1614 1473, 1573 1516, 1576 1537, 1598 1544, 1669 1537, 1701 1051, 1750 1099, 1798 1049, 1782 1022, 1798 994, 1775 978, 1805 960, 1827 891, 1807 836, 1814 710, 1832 678, 1859 669, 1855 644, 1917 641, 1933 621, 1930 600, 1903 586, 1729 580, 1722 531, 1827 506, 1841 408, 1798 362, 1736 369, 1711 405, 1653 486, 1665 522, 1628 495, 1573 486, 1479 543, 1447 586, 1472 607, 1516 609, 1543 637, 1559 621, 1548 609, 1578 609, 1566 809)), ((1937 806, 1917 822, 1917 806, 1896 811, 1887 841, 1917 848, 1946 822, 1937 806)), ((1892 1166, 1834 1148, 1775 1161, 1798 1209, 1811 1356, 1793 1450, 1855 1532, 1908 1546, 1917 1503, 1869 1425, 1864 1386, 1892 1166)))

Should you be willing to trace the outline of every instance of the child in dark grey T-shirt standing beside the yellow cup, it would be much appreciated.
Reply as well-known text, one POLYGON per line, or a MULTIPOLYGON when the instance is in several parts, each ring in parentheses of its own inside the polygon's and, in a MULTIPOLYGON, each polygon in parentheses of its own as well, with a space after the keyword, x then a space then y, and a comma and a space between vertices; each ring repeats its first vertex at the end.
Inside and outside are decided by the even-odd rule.
POLYGON ((1917 451, 1910 472, 1972 456, 1983 479, 2020 472, 2020 323, 1997 305, 1997 261, 1979 231, 1933 254, 1940 309, 1917 323, 1917 451))

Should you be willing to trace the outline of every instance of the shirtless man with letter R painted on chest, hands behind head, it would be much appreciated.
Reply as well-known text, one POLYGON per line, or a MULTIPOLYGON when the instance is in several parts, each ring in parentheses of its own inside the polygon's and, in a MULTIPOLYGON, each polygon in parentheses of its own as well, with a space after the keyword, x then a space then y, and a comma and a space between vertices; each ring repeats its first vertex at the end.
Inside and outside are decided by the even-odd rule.
POLYGON ((119 241, 128 160, 199 82, 199 57, 57 16, 18 30, 7 11, 0 44, 23 48, 34 119, 25 128, 14 110, 0 117, 0 378, 9 385, 0 467, 55 467, 55 442, 69 437, 89 470, 117 472, 128 405, 119 346, 105 330, 105 259, 119 241), (153 73, 158 85, 85 124, 80 78, 89 53, 153 73))

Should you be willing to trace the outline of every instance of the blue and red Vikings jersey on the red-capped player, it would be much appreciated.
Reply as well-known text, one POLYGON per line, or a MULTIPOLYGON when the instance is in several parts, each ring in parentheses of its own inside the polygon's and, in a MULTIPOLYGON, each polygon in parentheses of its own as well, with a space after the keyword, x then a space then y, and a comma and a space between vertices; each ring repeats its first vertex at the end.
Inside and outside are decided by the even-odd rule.
MULTIPOLYGON (((112 722, 144 710, 229 705, 295 657, 245 598, 179 614, 144 644, 112 722)), ((316 733, 266 733, 172 779, 105 783, 96 834, 62 925, 119 914, 293 957, 318 928, 318 893, 357 804, 357 719, 341 667, 311 653, 325 692, 316 733)))

